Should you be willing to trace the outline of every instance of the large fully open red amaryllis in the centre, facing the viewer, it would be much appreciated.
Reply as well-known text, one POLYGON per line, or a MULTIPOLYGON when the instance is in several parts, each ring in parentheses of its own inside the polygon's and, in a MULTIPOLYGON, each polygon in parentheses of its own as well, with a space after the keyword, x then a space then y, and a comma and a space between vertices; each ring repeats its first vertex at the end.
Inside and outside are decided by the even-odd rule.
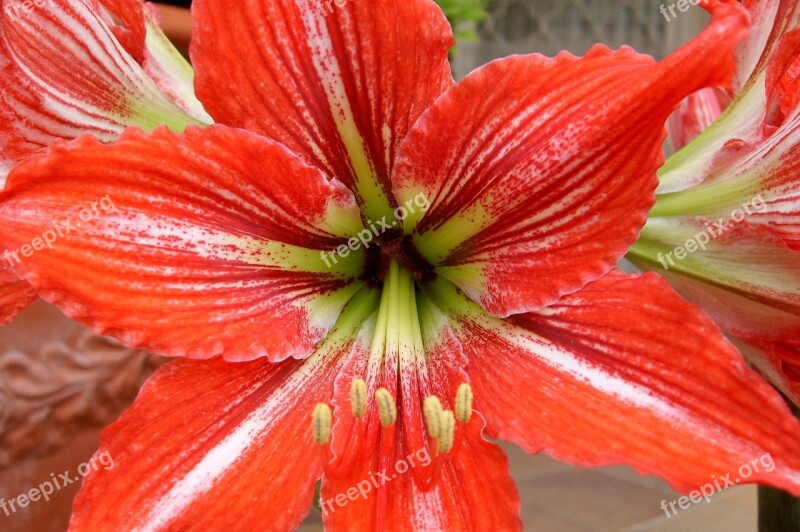
POLYGON ((800 493, 781 398, 664 281, 614 269, 671 110, 732 74, 747 16, 711 8, 661 63, 596 47, 454 84, 429 0, 196 1, 218 125, 59 142, 0 196, 9 250, 75 220, 15 266, 43 298, 181 357, 104 433, 116 467, 72 528, 289 529, 322 478, 332 528, 518 529, 484 433, 687 491, 770 453, 748 480, 800 493))

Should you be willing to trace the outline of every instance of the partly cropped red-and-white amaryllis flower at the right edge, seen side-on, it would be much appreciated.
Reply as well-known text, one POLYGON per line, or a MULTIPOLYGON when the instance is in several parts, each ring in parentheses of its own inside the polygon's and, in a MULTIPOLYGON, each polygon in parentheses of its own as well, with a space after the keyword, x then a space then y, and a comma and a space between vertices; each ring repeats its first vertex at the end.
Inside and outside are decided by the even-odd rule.
POLYGON ((720 114, 724 100, 698 93, 673 119, 688 126, 678 145, 707 127, 662 168, 630 258, 701 305, 800 405, 800 3, 744 5, 753 31, 735 97, 720 114))

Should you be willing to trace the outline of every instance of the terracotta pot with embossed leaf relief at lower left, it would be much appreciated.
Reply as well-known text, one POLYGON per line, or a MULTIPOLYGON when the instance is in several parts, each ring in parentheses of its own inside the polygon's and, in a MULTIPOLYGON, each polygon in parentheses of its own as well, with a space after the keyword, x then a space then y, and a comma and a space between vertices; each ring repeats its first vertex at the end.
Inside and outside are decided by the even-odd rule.
POLYGON ((75 477, 100 430, 162 362, 97 336, 43 301, 0 329, 0 530, 66 529, 75 477), (69 485, 20 506, 20 495, 65 472, 69 485))

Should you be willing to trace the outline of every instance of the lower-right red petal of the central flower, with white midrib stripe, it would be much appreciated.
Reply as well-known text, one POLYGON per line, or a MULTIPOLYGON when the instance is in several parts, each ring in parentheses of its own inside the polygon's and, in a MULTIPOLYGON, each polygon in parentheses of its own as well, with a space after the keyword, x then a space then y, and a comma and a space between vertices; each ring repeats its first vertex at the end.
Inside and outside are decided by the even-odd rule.
POLYGON ((507 322, 449 297, 475 406, 500 438, 577 465, 631 464, 685 491, 771 453, 773 470, 742 481, 800 494, 800 423, 658 276, 615 271, 507 322))

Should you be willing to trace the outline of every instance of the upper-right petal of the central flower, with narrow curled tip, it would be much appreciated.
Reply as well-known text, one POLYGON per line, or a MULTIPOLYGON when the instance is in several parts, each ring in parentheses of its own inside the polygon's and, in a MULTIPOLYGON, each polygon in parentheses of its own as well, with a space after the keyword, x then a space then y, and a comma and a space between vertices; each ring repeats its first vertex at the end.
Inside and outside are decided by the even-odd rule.
POLYGON ((491 313, 546 306, 602 276, 653 204, 664 123, 685 96, 723 83, 743 37, 716 4, 700 37, 662 63, 628 48, 490 63, 448 91, 401 147, 400 204, 438 272, 491 313))

